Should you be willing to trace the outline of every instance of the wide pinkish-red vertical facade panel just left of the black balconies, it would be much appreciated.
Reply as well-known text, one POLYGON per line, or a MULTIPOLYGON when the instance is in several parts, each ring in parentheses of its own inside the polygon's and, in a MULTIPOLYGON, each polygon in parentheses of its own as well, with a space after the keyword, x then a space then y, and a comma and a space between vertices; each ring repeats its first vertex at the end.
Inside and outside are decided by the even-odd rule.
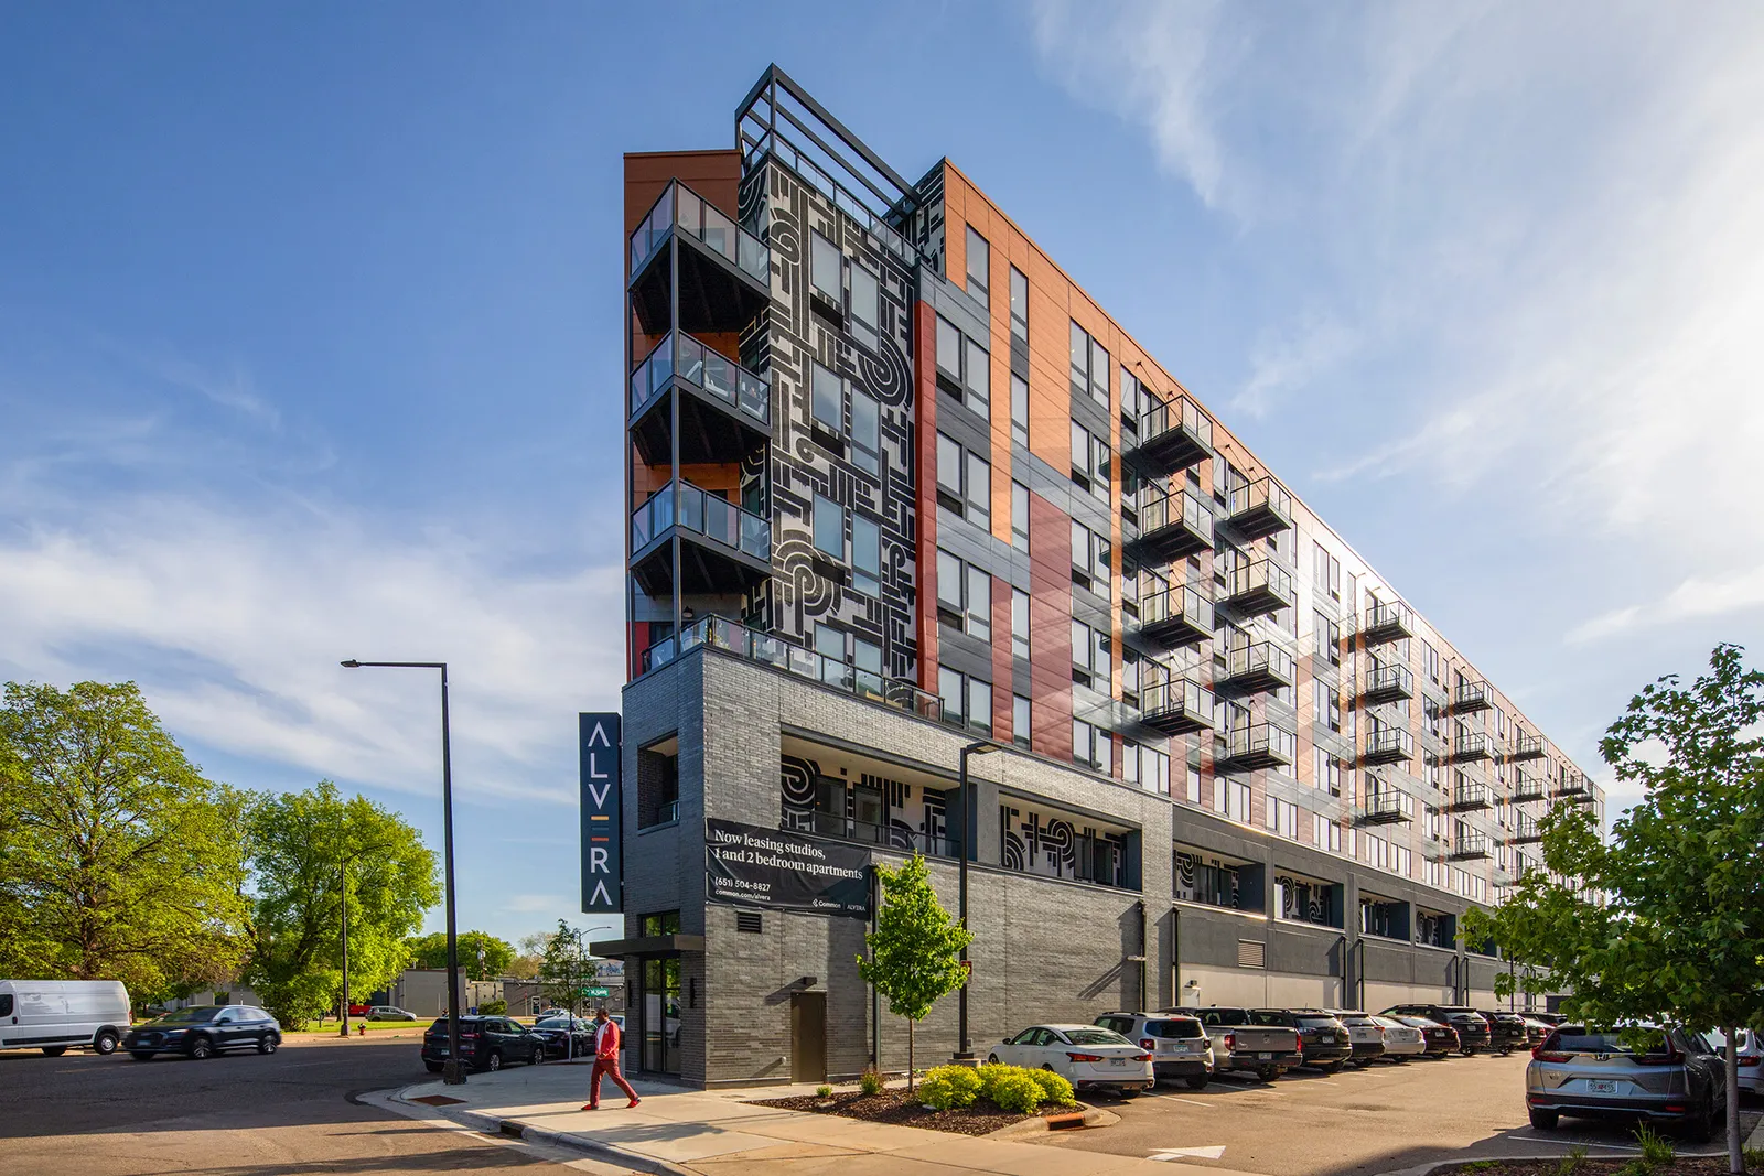
MULTIPOLYGON (((997 626, 995 626, 997 628, 997 626)), ((1028 495, 1030 746, 1073 758, 1073 520, 1028 495)))

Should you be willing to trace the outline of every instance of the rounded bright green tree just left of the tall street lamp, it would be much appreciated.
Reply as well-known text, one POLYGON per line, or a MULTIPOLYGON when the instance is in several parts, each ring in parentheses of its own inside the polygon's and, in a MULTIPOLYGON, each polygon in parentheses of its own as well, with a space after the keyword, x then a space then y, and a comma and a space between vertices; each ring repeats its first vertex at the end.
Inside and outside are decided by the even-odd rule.
POLYGON ((441 899, 436 855, 397 813, 337 785, 259 797, 250 813, 250 963, 245 982, 288 1024, 342 996, 344 903, 349 993, 385 987, 409 959, 406 938, 441 899))

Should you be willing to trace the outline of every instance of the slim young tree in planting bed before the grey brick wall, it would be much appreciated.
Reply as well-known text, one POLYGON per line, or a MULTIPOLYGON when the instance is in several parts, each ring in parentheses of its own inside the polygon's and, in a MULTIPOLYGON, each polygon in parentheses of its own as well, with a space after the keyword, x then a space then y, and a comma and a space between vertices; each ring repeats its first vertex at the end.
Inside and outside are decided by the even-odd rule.
POLYGON ((870 959, 857 957, 857 973, 887 998, 887 1010, 907 1017, 907 1090, 912 1090, 912 1028, 931 1005, 961 987, 961 949, 974 936, 937 901, 931 871, 914 853, 900 869, 877 866, 886 901, 877 929, 864 936, 870 959))

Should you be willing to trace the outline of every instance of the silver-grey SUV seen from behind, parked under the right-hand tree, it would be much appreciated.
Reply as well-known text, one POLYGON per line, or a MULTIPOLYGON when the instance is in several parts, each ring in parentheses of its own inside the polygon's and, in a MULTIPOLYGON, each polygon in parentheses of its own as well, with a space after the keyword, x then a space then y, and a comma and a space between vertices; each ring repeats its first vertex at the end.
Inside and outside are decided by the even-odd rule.
POLYGON ((1554 1130, 1570 1118, 1644 1118, 1683 1127, 1706 1141, 1725 1111, 1727 1074, 1715 1047, 1679 1028, 1635 1026, 1644 1049, 1619 1030, 1559 1024, 1526 1065, 1531 1127, 1554 1130))

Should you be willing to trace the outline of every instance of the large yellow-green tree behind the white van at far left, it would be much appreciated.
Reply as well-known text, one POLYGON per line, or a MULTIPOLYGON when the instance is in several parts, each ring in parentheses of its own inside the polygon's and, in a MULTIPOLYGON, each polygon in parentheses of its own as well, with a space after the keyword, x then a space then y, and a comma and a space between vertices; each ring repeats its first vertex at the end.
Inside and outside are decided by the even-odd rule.
POLYGON ((243 950, 243 797, 205 779, 134 682, 5 686, 0 973, 226 982, 243 950))

